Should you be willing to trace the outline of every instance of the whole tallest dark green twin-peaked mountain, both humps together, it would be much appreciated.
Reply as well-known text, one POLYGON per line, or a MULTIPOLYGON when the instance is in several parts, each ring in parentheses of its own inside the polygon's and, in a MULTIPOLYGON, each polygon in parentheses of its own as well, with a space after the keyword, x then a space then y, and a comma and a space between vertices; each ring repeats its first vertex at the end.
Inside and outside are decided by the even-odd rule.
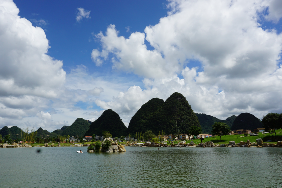
POLYGON ((152 130, 155 135, 158 135, 159 131, 176 134, 178 131, 185 133, 193 125, 201 127, 198 117, 182 94, 175 92, 162 103, 161 99, 154 98, 144 104, 142 110, 138 110, 132 117, 128 132, 135 134, 152 130), (150 104, 154 106, 151 107, 150 104), (146 111, 149 111, 148 115, 146 111))

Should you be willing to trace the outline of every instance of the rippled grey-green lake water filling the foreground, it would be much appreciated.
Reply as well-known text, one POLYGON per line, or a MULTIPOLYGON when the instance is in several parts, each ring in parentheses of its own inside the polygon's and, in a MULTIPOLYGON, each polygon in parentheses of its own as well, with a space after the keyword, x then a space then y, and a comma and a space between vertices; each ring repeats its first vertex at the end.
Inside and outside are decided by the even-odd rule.
POLYGON ((282 187, 282 148, 125 148, 1 148, 0 187, 282 187))

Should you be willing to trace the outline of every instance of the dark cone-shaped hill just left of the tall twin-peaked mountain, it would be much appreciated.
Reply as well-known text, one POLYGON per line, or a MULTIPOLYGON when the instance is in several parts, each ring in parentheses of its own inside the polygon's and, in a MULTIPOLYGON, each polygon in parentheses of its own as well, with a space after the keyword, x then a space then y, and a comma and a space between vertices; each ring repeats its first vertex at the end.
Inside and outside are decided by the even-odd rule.
POLYGON ((119 115, 113 110, 107 109, 97 120, 91 123, 84 136, 102 135, 102 131, 108 131, 113 137, 117 137, 124 135, 126 129, 119 115))

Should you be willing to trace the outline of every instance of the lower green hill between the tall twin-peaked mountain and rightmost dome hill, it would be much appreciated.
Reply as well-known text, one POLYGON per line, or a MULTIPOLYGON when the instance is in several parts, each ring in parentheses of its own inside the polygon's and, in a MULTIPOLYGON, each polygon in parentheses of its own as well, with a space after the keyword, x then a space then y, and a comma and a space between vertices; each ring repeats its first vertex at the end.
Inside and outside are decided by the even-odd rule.
POLYGON ((199 118, 200 125, 201 125, 203 133, 211 134, 212 133, 212 125, 216 122, 226 123, 228 125, 228 127, 230 127, 230 128, 232 127, 232 124, 229 121, 221 120, 221 119, 218 119, 218 118, 213 117, 211 115, 206 115, 204 113, 203 114, 196 113, 196 116, 199 118))

